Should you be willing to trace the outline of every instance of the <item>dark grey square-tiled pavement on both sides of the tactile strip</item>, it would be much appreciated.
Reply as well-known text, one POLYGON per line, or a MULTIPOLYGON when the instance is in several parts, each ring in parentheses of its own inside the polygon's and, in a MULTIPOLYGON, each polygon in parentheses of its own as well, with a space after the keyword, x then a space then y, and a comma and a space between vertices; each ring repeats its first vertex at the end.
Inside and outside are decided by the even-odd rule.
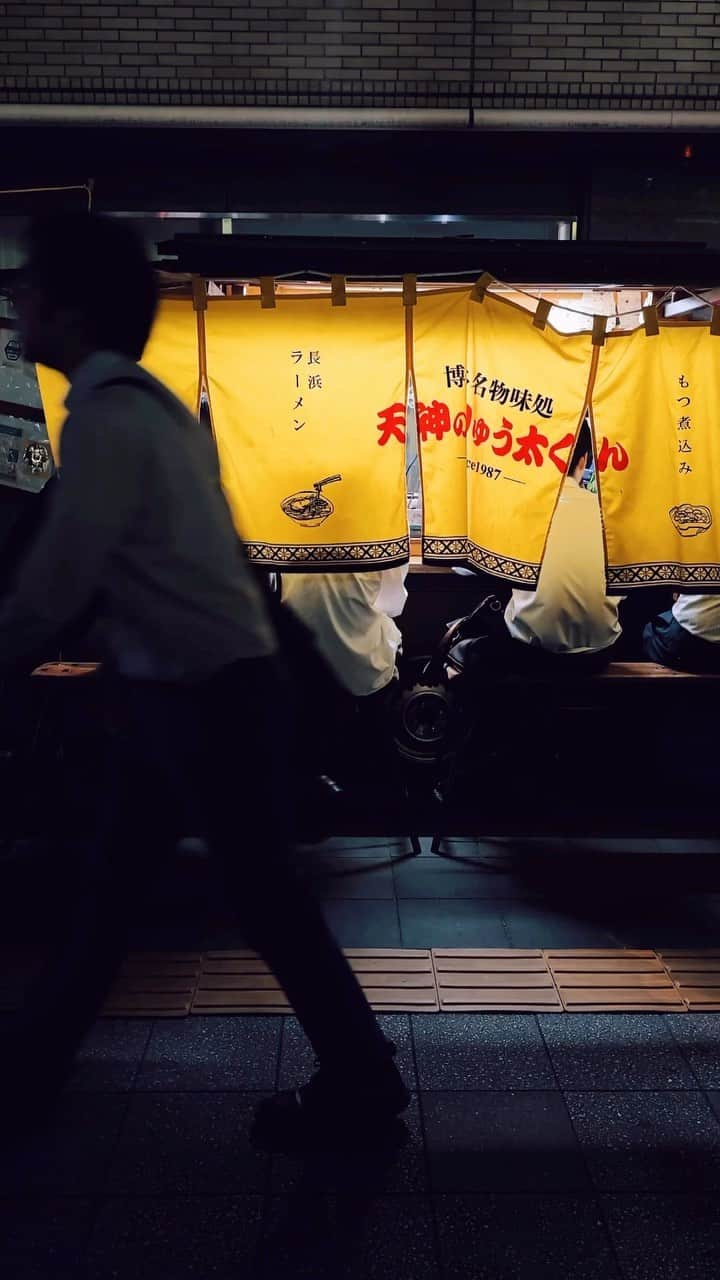
MULTIPOLYGON (((715 849, 628 844, 302 856, 345 946, 719 946, 715 849)), ((242 945, 182 899, 163 934, 242 945)), ((3 1280, 716 1280, 719 1014, 383 1023, 402 1132, 305 1157, 249 1142, 258 1098, 311 1070, 292 1019, 99 1024, 51 1126, 0 1152, 3 1280)))

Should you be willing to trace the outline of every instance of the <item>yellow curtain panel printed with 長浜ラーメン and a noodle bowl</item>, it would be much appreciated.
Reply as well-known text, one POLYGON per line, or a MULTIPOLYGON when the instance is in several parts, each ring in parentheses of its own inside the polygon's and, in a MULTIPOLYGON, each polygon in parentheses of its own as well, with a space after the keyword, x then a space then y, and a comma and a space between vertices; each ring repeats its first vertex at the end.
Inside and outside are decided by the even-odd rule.
POLYGON ((208 302, 220 470, 249 554, 282 568, 407 558, 397 297, 208 302))

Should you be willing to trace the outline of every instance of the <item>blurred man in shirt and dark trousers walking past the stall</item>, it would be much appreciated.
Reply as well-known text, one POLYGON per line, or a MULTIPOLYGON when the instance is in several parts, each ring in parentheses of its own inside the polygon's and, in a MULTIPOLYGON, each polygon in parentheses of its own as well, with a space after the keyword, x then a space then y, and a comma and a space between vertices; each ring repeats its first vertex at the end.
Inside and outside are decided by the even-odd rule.
POLYGON ((192 788, 243 934, 284 988, 319 1064, 309 1083, 261 1105, 260 1133, 311 1137, 350 1117, 391 1119, 409 1102, 393 1046, 293 874, 292 690, 238 554, 213 440, 137 365, 156 307, 152 269, 119 219, 38 223, 28 250, 15 300, 24 351, 68 378, 69 416, 50 517, 0 613, 0 662, 46 658, 54 637, 94 609, 124 762, 113 760, 102 836, 74 918, 63 922, 67 942, 22 1015, 17 1082, 50 1088, 72 1061, 124 955, 152 851, 143 805, 192 788))

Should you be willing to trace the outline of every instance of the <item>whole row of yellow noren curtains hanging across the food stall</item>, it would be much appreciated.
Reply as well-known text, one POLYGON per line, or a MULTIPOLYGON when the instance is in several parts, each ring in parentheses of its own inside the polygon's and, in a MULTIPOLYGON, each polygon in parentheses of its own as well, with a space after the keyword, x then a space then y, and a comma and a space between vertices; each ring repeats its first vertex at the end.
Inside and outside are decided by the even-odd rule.
MULTIPOLYGON (((719 308, 667 319, 678 291, 644 289, 630 316, 598 307, 566 333, 550 291, 487 273, 443 285, 263 278, 217 296, 195 276, 184 293, 163 298, 142 364, 206 412, 238 531, 268 570, 406 562, 416 452, 421 561, 533 588, 587 419, 609 591, 717 590, 719 308)), ((61 462, 65 385, 44 369, 38 380, 61 462)))

